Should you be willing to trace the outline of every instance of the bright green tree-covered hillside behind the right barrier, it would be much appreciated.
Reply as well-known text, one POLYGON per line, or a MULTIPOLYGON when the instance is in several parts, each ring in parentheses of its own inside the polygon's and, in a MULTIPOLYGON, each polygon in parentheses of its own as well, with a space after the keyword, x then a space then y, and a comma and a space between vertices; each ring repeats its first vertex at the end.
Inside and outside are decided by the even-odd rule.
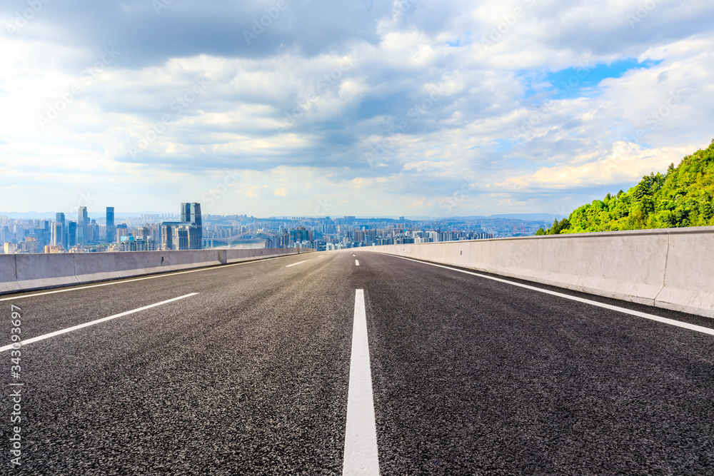
POLYGON ((667 173, 650 173, 627 192, 608 193, 536 235, 714 226, 714 140, 667 173))

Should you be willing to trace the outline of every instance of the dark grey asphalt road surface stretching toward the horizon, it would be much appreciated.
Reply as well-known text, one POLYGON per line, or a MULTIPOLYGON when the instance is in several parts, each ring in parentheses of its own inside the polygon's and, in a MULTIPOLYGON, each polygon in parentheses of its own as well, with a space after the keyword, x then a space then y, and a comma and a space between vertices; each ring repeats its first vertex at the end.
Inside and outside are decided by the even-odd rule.
POLYGON ((181 298, 0 352, 4 474, 341 474, 358 289, 382 475, 714 475, 713 335, 359 249, 0 296, 0 347, 181 298))

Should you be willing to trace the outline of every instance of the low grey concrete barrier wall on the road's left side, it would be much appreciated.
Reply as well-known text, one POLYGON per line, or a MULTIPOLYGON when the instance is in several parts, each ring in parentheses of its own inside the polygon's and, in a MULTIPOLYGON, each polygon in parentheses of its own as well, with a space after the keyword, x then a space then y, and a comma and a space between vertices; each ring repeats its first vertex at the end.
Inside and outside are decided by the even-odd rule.
POLYGON ((0 294, 169 273, 311 251, 265 248, 0 255, 0 294))

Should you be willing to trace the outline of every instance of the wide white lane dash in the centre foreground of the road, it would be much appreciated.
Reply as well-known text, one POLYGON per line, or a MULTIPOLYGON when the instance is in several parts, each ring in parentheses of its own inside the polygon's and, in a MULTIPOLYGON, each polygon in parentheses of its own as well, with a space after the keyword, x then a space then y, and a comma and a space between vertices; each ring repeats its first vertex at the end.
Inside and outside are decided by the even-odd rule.
POLYGON ((343 475, 379 475, 364 290, 355 292, 343 475))

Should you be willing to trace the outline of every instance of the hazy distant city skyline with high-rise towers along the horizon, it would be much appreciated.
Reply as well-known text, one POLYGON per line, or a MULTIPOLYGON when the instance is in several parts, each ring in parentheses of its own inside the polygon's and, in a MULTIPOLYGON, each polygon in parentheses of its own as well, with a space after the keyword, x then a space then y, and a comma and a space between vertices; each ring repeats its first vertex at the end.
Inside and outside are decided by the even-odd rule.
MULTIPOLYGON (((73 214, 74 215, 74 214, 73 214)), ((74 216, 72 217, 74 218, 74 216)), ((4 253, 90 253, 101 251, 199 250, 203 248, 312 248, 338 250, 371 245, 438 243, 535 234, 542 221, 504 218, 356 216, 255 218, 202 215, 200 203, 181 203, 177 214, 121 218, 114 207, 90 218, 79 207, 76 220, 56 213, 54 221, 0 216, 4 253)))

